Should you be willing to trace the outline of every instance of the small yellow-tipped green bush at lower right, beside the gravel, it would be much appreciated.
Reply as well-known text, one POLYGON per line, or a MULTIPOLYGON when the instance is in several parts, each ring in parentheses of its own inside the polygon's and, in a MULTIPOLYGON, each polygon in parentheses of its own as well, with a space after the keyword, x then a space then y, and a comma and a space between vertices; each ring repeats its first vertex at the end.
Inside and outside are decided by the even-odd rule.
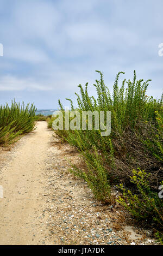
POLYGON ((123 187, 123 184, 120 184, 118 187, 122 190, 123 197, 119 197, 117 201, 123 205, 137 221, 155 223, 155 227, 159 228, 156 235, 161 242, 163 239, 163 199, 160 199, 158 192, 154 192, 149 186, 149 175, 151 174, 147 174, 144 170, 133 170, 131 182, 135 185, 134 192, 127 190, 123 187))

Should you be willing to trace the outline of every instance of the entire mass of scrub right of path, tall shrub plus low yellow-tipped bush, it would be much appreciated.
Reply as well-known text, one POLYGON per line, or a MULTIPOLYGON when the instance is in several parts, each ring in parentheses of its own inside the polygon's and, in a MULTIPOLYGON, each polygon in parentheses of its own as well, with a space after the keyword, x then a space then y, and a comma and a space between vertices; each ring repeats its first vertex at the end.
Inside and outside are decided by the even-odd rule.
MULTIPOLYGON (((136 219, 147 218, 149 225, 154 222, 162 232, 163 199, 158 198, 158 187, 163 180, 162 97, 159 100, 148 97, 147 88, 151 80, 137 80, 135 72, 133 80, 124 79, 121 87, 118 87, 118 80, 124 73, 118 73, 111 96, 103 74, 97 72, 100 78, 94 84, 96 98, 89 96, 86 84, 85 88, 78 86, 77 106, 74 107, 71 99, 67 100, 71 102, 71 110, 80 113, 83 110, 104 111, 105 114, 111 111, 111 134, 101 136, 101 129, 88 128, 63 129, 55 133, 62 141, 78 148, 87 168, 80 170, 73 166, 71 172, 84 178, 98 200, 111 203, 110 186, 117 184, 124 195, 119 203, 136 219), (133 173, 133 170, 137 171, 133 173)), ((60 100, 59 106, 65 115, 60 100)), ((49 128, 55 118, 48 120, 49 128)))

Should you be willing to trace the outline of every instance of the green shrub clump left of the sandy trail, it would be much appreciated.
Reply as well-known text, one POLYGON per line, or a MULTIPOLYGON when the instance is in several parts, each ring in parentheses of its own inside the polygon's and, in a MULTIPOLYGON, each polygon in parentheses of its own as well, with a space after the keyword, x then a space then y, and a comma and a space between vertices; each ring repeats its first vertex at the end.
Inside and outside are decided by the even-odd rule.
POLYGON ((8 145, 14 142, 21 134, 29 133, 35 126, 36 108, 15 101, 0 105, 0 145, 8 145))

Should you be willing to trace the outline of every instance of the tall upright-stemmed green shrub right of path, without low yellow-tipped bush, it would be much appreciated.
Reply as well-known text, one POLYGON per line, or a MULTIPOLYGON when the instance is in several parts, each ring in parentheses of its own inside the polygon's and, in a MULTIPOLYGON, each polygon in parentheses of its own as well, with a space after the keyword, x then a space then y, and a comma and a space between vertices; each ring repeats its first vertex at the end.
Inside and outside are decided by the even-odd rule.
MULTIPOLYGON (((92 130, 87 126, 86 130, 64 129, 55 133, 62 141, 78 148, 88 166, 89 172, 86 173, 90 177, 90 183, 87 181, 89 186, 96 198, 107 201, 105 189, 101 189, 100 175, 98 176, 101 170, 106 174, 102 176, 104 184, 106 177, 110 184, 123 180, 128 186, 133 187, 133 183, 130 182, 131 169, 139 166, 152 173, 154 186, 157 180, 160 181, 161 177, 153 173, 160 175, 162 166, 162 124, 156 119, 162 118, 162 97, 160 100, 147 97, 147 88, 151 80, 137 80, 135 71, 133 81, 124 79, 120 87, 118 80, 124 72, 117 74, 111 96, 109 88, 104 84, 103 74, 99 71, 97 73, 100 77, 94 84, 97 91, 96 98, 89 96, 86 83, 85 88, 82 85, 78 86, 80 94, 75 93, 76 107, 71 99, 67 100, 71 103, 71 110, 78 110, 81 116, 83 110, 96 110, 98 113, 104 111, 105 115, 106 111, 111 111, 110 136, 101 136, 101 128, 95 130, 94 126, 92 130), (99 197, 98 191, 101 191, 99 197)), ((59 106, 64 116, 64 108, 60 100, 59 106)), ((53 118, 48 121, 49 127, 52 127, 52 122, 53 118)), ((94 117, 93 124, 95 124, 94 117)), ((81 176, 82 172, 83 170, 78 170, 76 174, 81 176)), ((83 178, 86 180, 85 174, 83 178)))

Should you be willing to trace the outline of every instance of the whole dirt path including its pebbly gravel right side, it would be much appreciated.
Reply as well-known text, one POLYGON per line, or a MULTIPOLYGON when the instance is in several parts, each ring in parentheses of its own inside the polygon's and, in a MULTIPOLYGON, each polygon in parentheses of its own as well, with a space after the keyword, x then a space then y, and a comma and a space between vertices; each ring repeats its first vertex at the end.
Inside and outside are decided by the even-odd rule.
POLYGON ((46 122, 36 126, 11 151, 0 148, 0 245, 156 243, 125 223, 121 207, 99 204, 68 171, 70 163, 82 168, 78 152, 58 143, 46 122))

